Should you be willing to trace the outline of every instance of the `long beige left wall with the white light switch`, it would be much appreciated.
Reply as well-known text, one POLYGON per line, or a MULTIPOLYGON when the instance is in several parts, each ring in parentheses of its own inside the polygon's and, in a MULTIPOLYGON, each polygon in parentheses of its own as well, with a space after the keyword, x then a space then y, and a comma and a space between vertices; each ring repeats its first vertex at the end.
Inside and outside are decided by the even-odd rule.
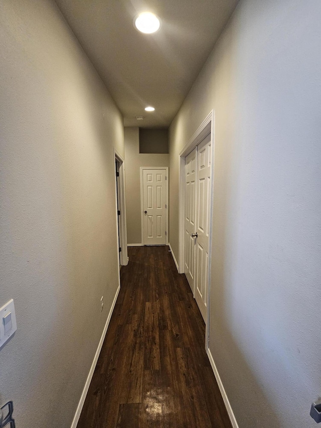
POLYGON ((0 3, 0 63, 0 306, 18 325, 0 403, 22 428, 70 427, 118 287, 122 117, 49 0, 0 3))

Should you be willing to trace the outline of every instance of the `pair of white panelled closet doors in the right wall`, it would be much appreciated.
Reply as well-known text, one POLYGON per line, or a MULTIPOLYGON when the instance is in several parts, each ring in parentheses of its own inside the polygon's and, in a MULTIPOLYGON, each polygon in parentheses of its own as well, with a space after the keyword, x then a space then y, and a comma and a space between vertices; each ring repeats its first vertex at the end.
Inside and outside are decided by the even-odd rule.
POLYGON ((185 274, 205 323, 208 307, 211 134, 185 159, 185 274))

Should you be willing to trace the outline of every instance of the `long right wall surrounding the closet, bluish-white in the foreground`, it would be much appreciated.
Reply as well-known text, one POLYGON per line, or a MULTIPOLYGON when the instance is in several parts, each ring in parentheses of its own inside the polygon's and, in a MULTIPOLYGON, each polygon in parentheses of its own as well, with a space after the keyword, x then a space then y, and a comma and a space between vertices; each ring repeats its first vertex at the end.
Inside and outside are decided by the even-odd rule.
POLYGON ((321 395, 321 5, 241 1, 170 129, 215 110, 210 350, 240 428, 313 428, 321 395))

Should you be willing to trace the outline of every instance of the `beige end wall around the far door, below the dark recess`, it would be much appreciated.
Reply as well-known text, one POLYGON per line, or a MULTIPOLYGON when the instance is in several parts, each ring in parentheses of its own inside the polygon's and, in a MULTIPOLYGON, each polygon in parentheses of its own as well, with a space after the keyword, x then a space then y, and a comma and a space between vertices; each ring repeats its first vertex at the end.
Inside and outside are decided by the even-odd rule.
MULTIPOLYGON (((168 167, 168 154, 139 154, 138 127, 124 128, 128 244, 141 243, 140 167, 168 167)), ((171 177, 171 171, 169 171, 171 177)))

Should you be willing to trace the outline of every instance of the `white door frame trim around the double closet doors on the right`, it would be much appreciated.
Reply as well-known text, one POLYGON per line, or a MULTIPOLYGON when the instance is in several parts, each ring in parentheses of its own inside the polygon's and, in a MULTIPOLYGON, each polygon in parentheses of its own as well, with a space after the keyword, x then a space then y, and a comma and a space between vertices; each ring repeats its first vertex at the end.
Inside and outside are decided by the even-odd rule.
MULTIPOLYGON (((205 331, 205 349, 209 347, 210 323, 210 290, 211 290, 211 253, 212 253, 212 216, 213 216, 213 190, 214 190, 214 110, 206 117, 193 134, 187 145, 179 154, 179 273, 184 273, 185 248, 185 158, 200 142, 211 133, 211 189, 210 189, 210 231, 209 231, 209 266, 208 266, 208 295, 207 295, 207 322, 205 331)), ((195 283, 193 296, 195 298, 195 283)))

